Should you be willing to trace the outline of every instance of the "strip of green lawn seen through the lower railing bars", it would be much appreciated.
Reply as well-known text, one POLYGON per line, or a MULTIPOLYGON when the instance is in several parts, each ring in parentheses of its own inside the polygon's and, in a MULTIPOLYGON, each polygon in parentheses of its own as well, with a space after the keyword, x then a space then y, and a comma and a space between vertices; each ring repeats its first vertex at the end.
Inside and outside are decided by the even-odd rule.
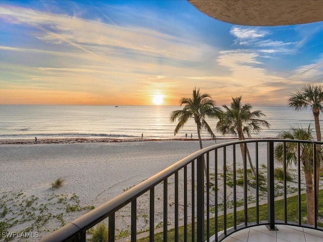
MULTIPOLYGON (((318 207, 323 206, 323 191, 319 191, 319 205, 318 207)), ((284 200, 276 201, 275 202, 275 220, 282 220, 284 221, 284 200)), ((248 209, 248 222, 256 221, 256 208, 249 208, 248 209)), ((323 211, 318 211, 318 217, 323 216, 323 211)), ((306 194, 301 195, 301 219, 306 217, 306 194)), ((259 220, 267 220, 267 205, 259 206, 259 220)), ((298 222, 298 197, 291 197, 287 199, 287 220, 289 222, 298 222)), ((210 219, 210 235, 214 234, 215 232, 219 232, 224 229, 224 216, 218 217, 218 229, 215 229, 215 219, 210 219)), ((237 212, 237 225, 244 223, 244 211, 237 212)), ((302 223, 306 223, 302 219, 302 223)), ((318 226, 323 226, 323 223, 318 222, 318 226)), ((227 228, 233 227, 233 213, 227 215, 227 228)), ((187 225, 187 236, 188 238, 192 235, 192 224, 187 225)), ((205 228, 205 235, 204 240, 206 240, 206 221, 204 224, 205 228)), ((196 224, 195 224, 195 234, 196 234, 196 224)), ((175 240, 175 229, 170 229, 168 231, 168 240, 174 241, 175 240)), ((138 242, 149 242, 149 237, 141 238, 137 240, 138 242)), ((155 242, 162 242, 163 241, 163 232, 156 233, 154 235, 155 242)), ((179 227, 179 241, 184 241, 184 226, 179 227)), ((196 241, 196 237, 195 237, 196 241)))

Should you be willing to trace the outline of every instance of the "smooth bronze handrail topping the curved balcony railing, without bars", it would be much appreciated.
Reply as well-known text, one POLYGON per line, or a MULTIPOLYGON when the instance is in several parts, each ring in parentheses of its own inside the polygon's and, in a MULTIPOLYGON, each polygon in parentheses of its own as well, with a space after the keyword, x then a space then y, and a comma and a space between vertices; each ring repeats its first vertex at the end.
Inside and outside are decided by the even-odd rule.
POLYGON ((81 217, 73 220, 72 222, 66 224, 62 228, 50 233, 46 237, 42 238, 40 241, 62 241, 75 237, 80 231, 86 231, 87 229, 93 227, 98 222, 109 217, 112 212, 119 210, 125 205, 129 204, 131 201, 139 197, 140 195, 146 193, 151 188, 159 184, 165 178, 173 175, 176 171, 180 170, 184 166, 188 165, 191 161, 197 159, 198 157, 204 155, 215 149, 219 149, 226 146, 241 144, 241 143, 256 143, 256 142, 293 142, 293 143, 311 143, 311 144, 323 144, 323 142, 318 141, 306 141, 306 140, 289 140, 289 139, 246 139, 246 140, 236 140, 220 144, 215 144, 208 146, 206 148, 200 149, 186 156, 185 158, 179 160, 168 168, 158 172, 157 174, 147 178, 140 184, 129 189, 128 191, 120 194, 119 196, 101 204, 97 208, 89 211, 88 213, 82 215, 81 217))

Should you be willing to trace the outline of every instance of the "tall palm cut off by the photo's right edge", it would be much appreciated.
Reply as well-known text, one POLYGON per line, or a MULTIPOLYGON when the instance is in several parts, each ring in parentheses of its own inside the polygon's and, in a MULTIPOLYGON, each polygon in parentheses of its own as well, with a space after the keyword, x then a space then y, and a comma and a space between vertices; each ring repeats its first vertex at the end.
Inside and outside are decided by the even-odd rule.
MULTIPOLYGON (((319 112, 323 112, 323 87, 321 85, 307 85, 303 86, 301 90, 297 90, 289 98, 289 106, 296 111, 304 109, 312 109, 314 116, 314 125, 317 141, 321 141, 321 131, 319 127, 319 112)), ((321 147, 318 147, 318 150, 321 147)), ((319 180, 320 164, 317 163, 316 180, 319 180)), ((316 192, 318 193, 318 186, 316 192)))

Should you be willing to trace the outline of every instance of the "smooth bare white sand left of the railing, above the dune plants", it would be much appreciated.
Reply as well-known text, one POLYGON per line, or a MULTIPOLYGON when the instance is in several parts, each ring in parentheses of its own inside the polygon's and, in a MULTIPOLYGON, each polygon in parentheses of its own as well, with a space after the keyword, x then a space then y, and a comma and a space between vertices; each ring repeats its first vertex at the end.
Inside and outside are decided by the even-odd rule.
POLYGON ((43 192, 62 177, 60 193, 98 206, 196 150, 197 141, 1 145, 0 192, 43 192))

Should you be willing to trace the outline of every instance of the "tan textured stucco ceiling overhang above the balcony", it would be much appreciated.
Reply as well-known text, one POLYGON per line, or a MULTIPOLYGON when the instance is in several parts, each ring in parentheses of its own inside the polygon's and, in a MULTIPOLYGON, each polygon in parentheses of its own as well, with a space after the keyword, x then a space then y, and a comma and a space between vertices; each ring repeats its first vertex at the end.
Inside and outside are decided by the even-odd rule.
POLYGON ((188 0, 202 13, 224 22, 278 26, 323 21, 323 0, 188 0))

